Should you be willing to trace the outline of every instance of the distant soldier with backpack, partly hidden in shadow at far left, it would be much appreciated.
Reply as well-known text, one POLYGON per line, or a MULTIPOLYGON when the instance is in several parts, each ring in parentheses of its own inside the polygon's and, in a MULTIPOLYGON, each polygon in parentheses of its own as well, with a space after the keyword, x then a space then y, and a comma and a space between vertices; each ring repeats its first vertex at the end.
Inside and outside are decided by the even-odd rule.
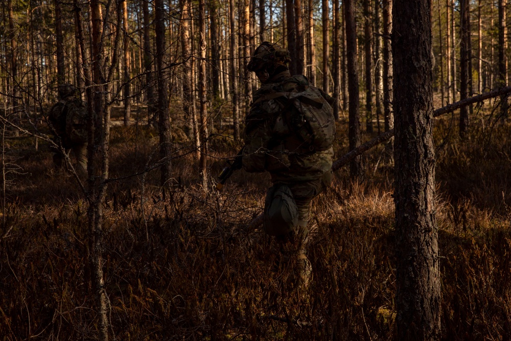
MULTIPOLYGON (((48 122, 55 136, 55 142, 68 153, 73 150, 76 168, 81 175, 87 174, 87 110, 73 84, 58 87, 59 101, 50 109, 48 122)), ((62 167, 64 155, 57 150, 53 162, 62 167)))

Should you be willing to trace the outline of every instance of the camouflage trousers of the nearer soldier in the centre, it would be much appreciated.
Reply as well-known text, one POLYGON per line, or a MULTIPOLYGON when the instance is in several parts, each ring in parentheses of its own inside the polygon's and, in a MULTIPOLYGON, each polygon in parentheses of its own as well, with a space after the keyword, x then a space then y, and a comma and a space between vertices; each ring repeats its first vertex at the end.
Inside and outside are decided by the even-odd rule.
POLYGON ((312 266, 307 258, 306 246, 309 240, 309 220, 312 199, 321 193, 332 181, 332 172, 322 178, 301 183, 286 184, 293 193, 298 208, 298 224, 294 230, 276 236, 275 240, 280 247, 281 256, 292 269, 290 281, 293 287, 304 286, 309 283, 312 266))

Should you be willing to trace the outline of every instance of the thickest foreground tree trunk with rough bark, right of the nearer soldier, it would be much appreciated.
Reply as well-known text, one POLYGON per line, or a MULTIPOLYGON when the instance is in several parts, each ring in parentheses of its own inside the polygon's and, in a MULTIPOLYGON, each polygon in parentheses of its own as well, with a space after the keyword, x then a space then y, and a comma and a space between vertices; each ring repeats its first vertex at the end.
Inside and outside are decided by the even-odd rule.
POLYGON ((440 334, 430 13, 430 0, 394 0, 394 201, 399 340, 432 341, 440 334))

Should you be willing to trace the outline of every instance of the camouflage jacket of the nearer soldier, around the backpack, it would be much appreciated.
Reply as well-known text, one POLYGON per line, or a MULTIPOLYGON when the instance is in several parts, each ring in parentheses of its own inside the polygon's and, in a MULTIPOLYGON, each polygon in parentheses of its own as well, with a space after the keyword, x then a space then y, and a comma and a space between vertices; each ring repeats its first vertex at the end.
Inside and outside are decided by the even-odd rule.
POLYGON ((332 168, 333 149, 316 152, 301 149, 281 115, 284 105, 271 99, 275 93, 301 92, 300 87, 310 86, 309 81, 301 75, 291 77, 289 72, 274 79, 253 96, 245 119, 243 168, 247 172, 268 171, 273 183, 319 179, 332 168), (263 97, 268 100, 261 100, 263 97))

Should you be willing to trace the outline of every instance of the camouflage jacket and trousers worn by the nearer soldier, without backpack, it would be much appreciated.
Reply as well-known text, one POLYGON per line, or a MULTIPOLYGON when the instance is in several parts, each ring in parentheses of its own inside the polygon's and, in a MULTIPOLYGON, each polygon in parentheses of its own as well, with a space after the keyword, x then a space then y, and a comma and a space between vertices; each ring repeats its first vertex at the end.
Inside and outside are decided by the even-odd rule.
MULTIPOLYGON (((284 105, 272 95, 301 92, 304 86, 310 85, 305 76, 291 76, 287 67, 276 70, 280 72, 270 74, 266 81, 260 78, 263 85, 254 94, 246 116, 243 168, 247 172, 268 171, 273 183, 268 193, 281 184, 291 190, 298 208, 298 224, 290 233, 277 235, 275 239, 280 244, 284 260, 294 264, 290 265, 294 268, 291 274, 294 285, 307 285, 311 273, 305 251, 310 203, 332 179, 334 153, 332 148, 316 152, 302 149, 293 139, 289 127, 279 115, 284 105)), ((325 96, 327 100, 332 99, 325 96)))

